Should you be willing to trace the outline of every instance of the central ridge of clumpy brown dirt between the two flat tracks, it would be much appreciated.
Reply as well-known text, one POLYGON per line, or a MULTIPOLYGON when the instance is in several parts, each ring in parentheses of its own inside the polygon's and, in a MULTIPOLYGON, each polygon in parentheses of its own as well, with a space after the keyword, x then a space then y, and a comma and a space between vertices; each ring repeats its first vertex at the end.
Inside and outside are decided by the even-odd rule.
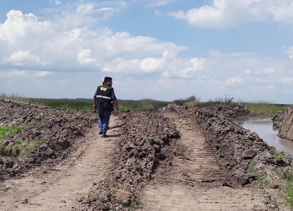
POLYGON ((172 164, 170 142, 179 137, 160 113, 121 114, 125 125, 116 142, 113 166, 107 179, 97 184, 73 210, 128 210, 160 165, 172 164))

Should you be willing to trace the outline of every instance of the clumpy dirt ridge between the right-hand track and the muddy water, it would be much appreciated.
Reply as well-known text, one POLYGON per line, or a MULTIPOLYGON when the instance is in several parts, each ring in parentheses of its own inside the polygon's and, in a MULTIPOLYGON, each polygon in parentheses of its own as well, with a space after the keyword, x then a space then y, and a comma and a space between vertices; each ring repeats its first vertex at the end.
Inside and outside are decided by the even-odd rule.
MULTIPOLYGON (((288 166, 289 160, 275 159, 274 148, 268 146, 255 132, 251 132, 230 121, 230 109, 182 107, 169 105, 166 109, 176 111, 194 123, 206 134, 219 165, 231 186, 246 185, 253 179, 265 178, 267 169, 288 166), (229 110, 227 115, 227 110, 229 110), (248 170, 251 169, 252 170, 248 170)), ((232 109, 233 111, 233 109, 232 109)))

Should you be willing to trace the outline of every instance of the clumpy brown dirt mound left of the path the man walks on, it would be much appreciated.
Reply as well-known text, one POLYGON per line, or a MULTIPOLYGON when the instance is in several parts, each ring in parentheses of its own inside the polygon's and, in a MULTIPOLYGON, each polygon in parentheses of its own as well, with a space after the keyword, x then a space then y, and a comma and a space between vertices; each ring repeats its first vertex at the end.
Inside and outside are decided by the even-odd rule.
POLYGON ((66 149, 74 144, 77 137, 83 136, 97 118, 97 114, 90 111, 72 112, 6 100, 0 101, 0 110, 1 126, 24 126, 13 137, 0 140, 0 180, 19 176, 43 163, 54 165, 65 158, 69 153, 66 149), (16 141, 31 143, 36 140, 42 143, 17 161, 11 158, 15 156, 11 150, 4 149, 16 141))

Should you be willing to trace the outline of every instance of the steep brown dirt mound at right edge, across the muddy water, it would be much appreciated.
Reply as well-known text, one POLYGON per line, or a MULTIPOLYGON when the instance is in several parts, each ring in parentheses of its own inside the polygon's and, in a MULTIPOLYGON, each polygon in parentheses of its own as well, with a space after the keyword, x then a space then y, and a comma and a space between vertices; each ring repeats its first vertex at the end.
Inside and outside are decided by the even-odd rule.
POLYGON ((278 136, 293 141, 293 106, 284 112, 284 119, 278 132, 278 136))

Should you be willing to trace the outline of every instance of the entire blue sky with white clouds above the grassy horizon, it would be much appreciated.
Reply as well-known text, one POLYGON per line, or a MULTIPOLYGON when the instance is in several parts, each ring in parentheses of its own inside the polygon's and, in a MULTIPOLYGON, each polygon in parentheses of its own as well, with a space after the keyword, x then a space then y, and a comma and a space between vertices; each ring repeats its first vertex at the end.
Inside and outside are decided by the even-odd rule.
POLYGON ((0 2, 0 92, 292 104, 292 0, 0 2))

